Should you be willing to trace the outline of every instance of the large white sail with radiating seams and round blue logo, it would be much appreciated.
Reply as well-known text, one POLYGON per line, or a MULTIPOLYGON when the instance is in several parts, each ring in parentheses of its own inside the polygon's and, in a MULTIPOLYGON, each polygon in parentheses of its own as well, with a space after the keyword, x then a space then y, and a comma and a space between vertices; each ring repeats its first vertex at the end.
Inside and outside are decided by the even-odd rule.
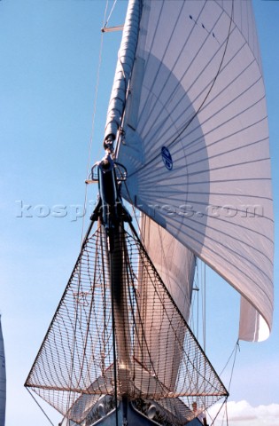
POLYGON ((236 288, 267 336, 273 210, 251 2, 143 0, 124 119, 124 197, 236 288))

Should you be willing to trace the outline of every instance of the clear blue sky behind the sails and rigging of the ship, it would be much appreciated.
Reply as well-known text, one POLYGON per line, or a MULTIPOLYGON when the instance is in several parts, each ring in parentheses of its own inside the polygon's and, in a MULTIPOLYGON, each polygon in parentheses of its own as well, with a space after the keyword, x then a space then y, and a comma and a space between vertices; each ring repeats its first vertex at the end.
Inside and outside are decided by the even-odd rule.
MULTIPOLYGON (((279 2, 253 4, 267 89, 276 219, 279 2)), ((126 2, 117 7, 111 25, 123 22, 126 2)), ((103 155, 105 113, 120 43, 120 33, 105 34, 92 126, 104 11, 105 0, 0 2, 0 312, 8 378, 6 426, 50 424, 23 383, 78 255, 91 138, 90 163, 103 155)), ((89 212, 95 199, 91 185, 89 212)), ((275 285, 277 259, 278 249, 275 285)), ((207 313, 206 347, 220 372, 236 343, 238 296, 212 272, 206 280, 212 292, 207 312, 213 305, 217 311, 207 313)), ((232 426, 266 424, 266 413, 273 416, 268 424, 279 425, 278 302, 275 288, 275 325, 267 342, 241 343, 230 388, 230 400, 235 401, 230 406, 232 426)), ((229 372, 222 378, 227 384, 229 372)), ((60 416, 46 410, 58 423, 60 416)))

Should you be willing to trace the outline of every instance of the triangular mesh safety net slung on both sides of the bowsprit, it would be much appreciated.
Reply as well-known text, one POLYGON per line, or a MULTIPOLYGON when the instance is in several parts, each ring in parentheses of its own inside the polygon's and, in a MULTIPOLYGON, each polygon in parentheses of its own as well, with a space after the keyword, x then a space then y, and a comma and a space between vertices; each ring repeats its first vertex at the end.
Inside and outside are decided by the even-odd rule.
POLYGON ((113 241, 110 252, 98 227, 83 244, 26 386, 81 422, 114 395, 115 370, 118 396, 158 401, 182 424, 227 391, 136 235, 113 241))

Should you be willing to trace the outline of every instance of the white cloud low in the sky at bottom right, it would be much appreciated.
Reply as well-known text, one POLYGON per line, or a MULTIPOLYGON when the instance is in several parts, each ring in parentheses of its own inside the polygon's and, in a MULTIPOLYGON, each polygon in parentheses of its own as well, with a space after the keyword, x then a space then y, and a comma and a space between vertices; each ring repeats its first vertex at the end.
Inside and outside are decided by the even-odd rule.
MULTIPOLYGON (((221 405, 213 406, 209 410, 210 416, 214 418, 220 408, 221 405)), ((227 413, 229 426, 269 426, 271 424, 279 426, 279 404, 251 406, 247 401, 230 401, 227 404, 227 413)), ((218 421, 215 421, 214 425, 221 426, 222 424, 226 424, 224 422, 226 418, 227 414, 223 407, 218 416, 218 421)))

